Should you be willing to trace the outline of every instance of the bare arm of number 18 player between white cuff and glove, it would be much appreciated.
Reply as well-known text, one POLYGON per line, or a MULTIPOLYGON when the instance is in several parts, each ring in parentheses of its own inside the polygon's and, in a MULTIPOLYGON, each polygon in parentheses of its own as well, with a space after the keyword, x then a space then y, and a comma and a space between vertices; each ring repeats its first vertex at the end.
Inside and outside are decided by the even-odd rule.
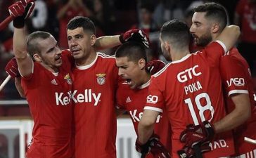
POLYGON ((152 136, 155 121, 158 117, 159 112, 153 110, 144 110, 143 116, 139 121, 138 133, 139 142, 145 144, 148 139, 152 136))

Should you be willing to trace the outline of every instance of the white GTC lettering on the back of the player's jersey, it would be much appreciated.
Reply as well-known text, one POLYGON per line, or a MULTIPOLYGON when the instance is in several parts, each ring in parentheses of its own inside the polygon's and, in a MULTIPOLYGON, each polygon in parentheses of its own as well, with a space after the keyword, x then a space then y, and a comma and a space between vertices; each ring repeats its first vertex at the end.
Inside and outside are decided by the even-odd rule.
POLYGON ((177 79, 179 80, 179 82, 183 83, 185 81, 188 81, 188 79, 192 79, 193 76, 197 77, 202 74, 202 72, 196 72, 196 67, 198 67, 198 65, 184 70, 183 72, 179 72, 179 74, 177 75, 177 79))

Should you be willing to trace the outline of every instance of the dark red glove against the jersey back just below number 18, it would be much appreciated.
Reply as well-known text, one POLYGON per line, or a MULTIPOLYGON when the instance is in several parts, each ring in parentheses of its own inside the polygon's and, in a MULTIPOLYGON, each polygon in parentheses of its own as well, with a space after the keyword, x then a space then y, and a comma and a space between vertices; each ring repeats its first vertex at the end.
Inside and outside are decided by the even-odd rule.
POLYGON ((182 143, 186 143, 188 147, 193 147, 198 143, 210 143, 215 135, 215 129, 209 121, 203 121, 203 124, 194 126, 189 124, 186 129, 181 132, 179 137, 182 143))

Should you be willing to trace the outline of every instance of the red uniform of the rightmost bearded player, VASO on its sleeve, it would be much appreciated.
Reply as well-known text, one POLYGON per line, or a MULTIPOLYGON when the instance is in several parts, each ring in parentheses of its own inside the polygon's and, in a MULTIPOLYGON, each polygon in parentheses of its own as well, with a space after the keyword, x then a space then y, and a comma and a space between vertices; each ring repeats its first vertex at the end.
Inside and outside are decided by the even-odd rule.
POLYGON ((222 83, 224 84, 224 91, 226 93, 228 112, 233 111, 235 108, 233 101, 229 98, 232 94, 249 94, 251 102, 251 117, 248 121, 234 130, 234 140, 236 155, 242 156, 243 154, 244 157, 248 158, 250 158, 250 155, 254 155, 255 157, 256 146, 243 140, 244 137, 256 139, 256 133, 253 130, 256 126, 255 92, 248 63, 236 48, 231 48, 227 55, 222 57, 220 62, 220 71, 222 73, 222 83), (255 152, 252 150, 255 150, 255 152), (249 154, 246 154, 247 152, 249 152, 249 154))

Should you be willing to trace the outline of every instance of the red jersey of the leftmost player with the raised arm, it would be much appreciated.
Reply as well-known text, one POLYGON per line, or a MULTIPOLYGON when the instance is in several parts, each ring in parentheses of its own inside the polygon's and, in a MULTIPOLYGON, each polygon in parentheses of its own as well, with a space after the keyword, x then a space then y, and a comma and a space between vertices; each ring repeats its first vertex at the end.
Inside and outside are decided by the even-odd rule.
POLYGON ((56 74, 34 62, 32 74, 21 80, 34 119, 27 158, 72 157, 71 65, 65 55, 62 60, 63 65, 56 74))

